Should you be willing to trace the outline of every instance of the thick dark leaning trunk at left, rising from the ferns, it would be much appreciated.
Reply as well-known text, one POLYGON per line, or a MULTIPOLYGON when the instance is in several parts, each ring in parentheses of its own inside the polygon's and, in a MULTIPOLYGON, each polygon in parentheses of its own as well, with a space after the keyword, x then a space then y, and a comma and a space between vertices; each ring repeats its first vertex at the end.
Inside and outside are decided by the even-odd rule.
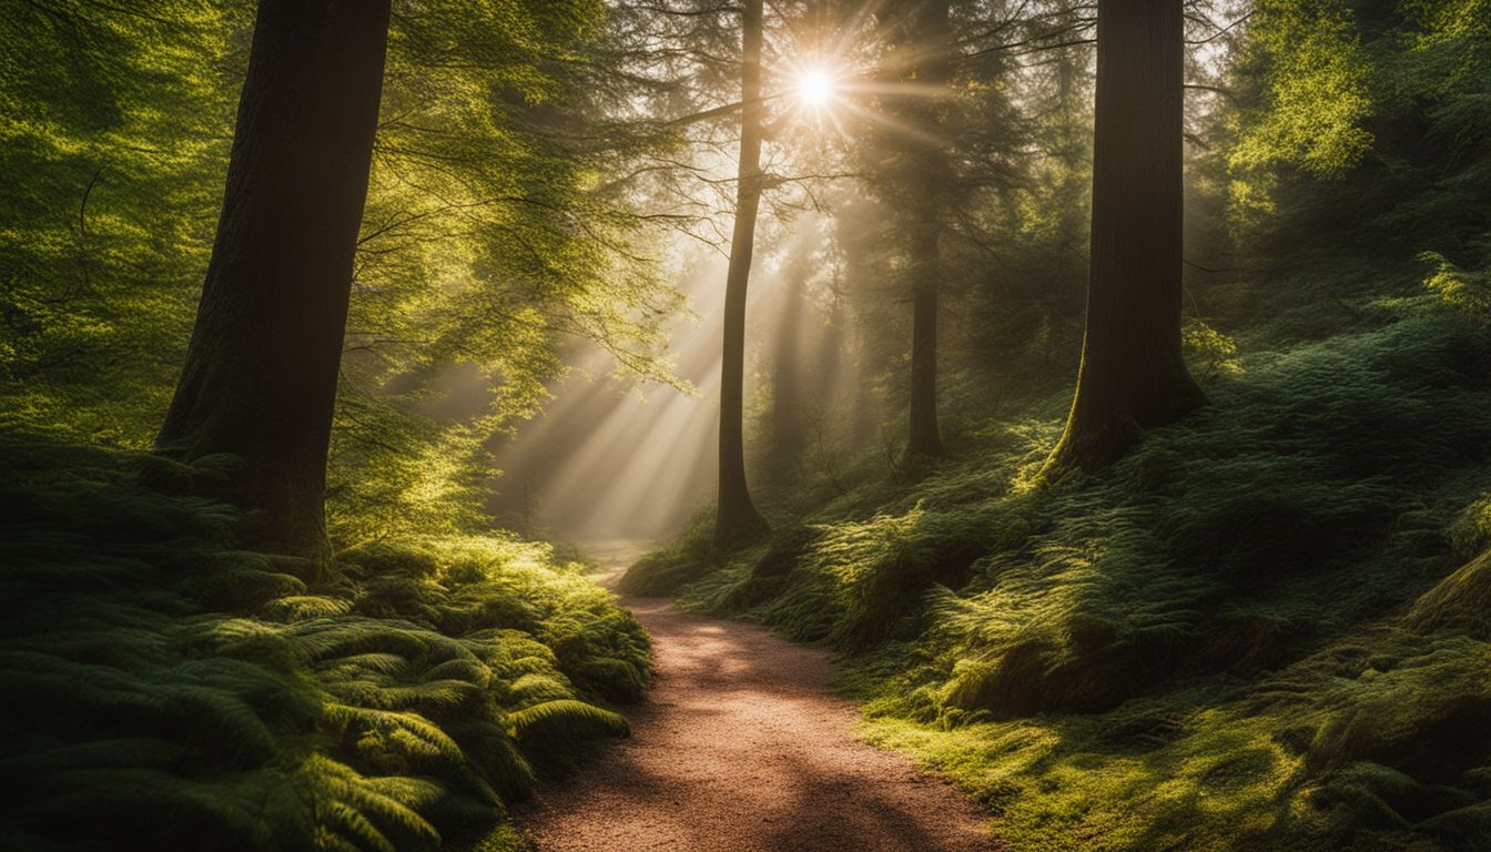
POLYGON ((327 449, 389 0, 261 0, 166 455, 243 460, 256 546, 325 552, 327 449))

